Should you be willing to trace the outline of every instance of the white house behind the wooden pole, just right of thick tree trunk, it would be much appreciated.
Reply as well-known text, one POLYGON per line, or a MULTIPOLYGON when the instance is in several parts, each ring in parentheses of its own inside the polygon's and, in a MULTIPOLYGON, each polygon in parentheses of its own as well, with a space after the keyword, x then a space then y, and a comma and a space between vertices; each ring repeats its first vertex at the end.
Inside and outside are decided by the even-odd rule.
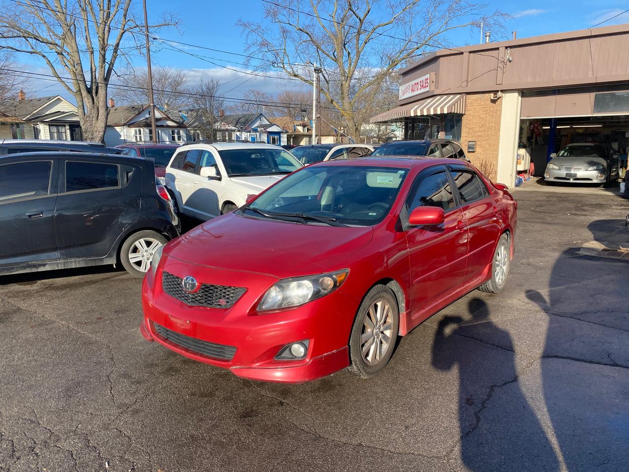
MULTIPOLYGON (((167 144, 187 142, 186 116, 178 111, 155 108, 157 141, 167 144)), ((126 142, 150 142, 153 140, 150 106, 146 104, 114 106, 109 99, 109 116, 105 143, 118 146, 126 142)))

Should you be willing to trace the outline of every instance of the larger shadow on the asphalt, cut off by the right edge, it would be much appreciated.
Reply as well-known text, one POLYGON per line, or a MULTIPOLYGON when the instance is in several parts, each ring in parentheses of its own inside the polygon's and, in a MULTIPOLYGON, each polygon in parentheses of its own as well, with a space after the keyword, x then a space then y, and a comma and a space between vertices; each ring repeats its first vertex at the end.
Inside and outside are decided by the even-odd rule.
MULTIPOLYGON (((626 241, 623 221, 587 226, 604 245, 626 241)), ((543 396, 569 471, 618 471, 629 461, 629 264, 564 250, 547 288, 526 298, 548 316, 543 396)))

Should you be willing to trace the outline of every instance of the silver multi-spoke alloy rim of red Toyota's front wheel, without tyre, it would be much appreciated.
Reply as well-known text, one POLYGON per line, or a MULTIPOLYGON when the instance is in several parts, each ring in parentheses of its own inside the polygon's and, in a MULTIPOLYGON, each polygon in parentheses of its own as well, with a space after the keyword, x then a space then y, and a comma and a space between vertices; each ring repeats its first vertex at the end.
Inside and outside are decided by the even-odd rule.
POLYGON ((378 364, 389 351, 393 338, 393 312, 384 298, 371 304, 363 318, 360 353, 369 366, 378 364))

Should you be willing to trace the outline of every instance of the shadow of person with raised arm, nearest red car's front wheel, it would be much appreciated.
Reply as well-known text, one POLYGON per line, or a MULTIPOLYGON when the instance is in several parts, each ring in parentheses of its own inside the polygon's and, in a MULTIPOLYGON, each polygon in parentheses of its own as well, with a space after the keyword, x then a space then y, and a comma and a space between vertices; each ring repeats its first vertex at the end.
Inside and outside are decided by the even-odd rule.
POLYGON ((472 471, 557 471, 559 461, 521 391, 513 343, 470 300, 471 324, 445 317, 437 328, 433 367, 459 370, 461 460, 472 471))

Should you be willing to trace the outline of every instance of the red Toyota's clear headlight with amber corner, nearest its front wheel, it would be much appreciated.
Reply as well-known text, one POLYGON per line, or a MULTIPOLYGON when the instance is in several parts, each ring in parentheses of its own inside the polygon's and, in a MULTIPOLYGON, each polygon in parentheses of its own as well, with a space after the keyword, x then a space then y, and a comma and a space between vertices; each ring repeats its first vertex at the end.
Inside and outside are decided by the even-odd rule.
MULTIPOLYGON (((155 256, 153 256, 155 257, 155 256)), ((350 269, 316 276, 291 277, 276 282, 264 294, 257 310, 279 310, 299 306, 332 293, 342 286, 350 269)))

